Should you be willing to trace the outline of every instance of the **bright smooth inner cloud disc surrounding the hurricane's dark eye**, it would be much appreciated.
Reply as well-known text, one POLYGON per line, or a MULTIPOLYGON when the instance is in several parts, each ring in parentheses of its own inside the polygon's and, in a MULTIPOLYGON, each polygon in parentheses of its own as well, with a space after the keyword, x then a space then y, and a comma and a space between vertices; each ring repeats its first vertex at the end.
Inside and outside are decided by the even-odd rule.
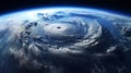
MULTIPOLYGON (((68 41, 68 40, 76 40, 82 38, 83 32, 79 32, 76 24, 70 23, 53 23, 44 26, 45 35, 49 37, 51 40, 60 40, 60 41, 68 41)), ((84 31, 84 29, 83 29, 84 31)))

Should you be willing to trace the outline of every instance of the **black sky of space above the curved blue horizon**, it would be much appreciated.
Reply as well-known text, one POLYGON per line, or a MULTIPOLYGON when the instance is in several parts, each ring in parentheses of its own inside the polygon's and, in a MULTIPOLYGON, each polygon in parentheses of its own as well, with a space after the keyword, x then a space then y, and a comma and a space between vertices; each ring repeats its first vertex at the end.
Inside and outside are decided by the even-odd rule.
POLYGON ((1 0, 0 13, 41 7, 90 7, 131 14, 128 0, 1 0))

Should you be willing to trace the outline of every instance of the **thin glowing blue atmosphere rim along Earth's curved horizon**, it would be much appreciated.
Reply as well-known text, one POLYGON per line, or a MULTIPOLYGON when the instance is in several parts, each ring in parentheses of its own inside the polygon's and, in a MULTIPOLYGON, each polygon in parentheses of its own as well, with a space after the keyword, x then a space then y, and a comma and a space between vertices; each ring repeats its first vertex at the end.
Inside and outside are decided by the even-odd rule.
POLYGON ((23 10, 19 10, 19 11, 13 11, 13 12, 9 12, 5 14, 2 14, 0 16, 3 15, 11 15, 11 14, 15 14, 15 13, 23 13, 23 12, 29 12, 29 11, 38 11, 38 10, 66 10, 66 9, 74 9, 74 10, 90 10, 90 11, 95 11, 95 12, 107 12, 110 14, 117 14, 117 15, 122 15, 122 16, 128 16, 131 17, 131 15, 126 14, 123 12, 119 12, 119 11, 112 11, 112 10, 108 10, 108 9, 102 9, 102 8, 91 8, 91 7, 37 7, 37 8, 28 8, 28 9, 23 9, 23 10))

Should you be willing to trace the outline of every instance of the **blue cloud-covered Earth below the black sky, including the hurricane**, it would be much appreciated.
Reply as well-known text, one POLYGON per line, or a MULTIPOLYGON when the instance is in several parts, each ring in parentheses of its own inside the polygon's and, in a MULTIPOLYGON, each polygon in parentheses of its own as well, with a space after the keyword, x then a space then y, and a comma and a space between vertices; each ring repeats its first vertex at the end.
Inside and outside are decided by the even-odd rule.
POLYGON ((88 8, 0 15, 0 73, 131 73, 131 17, 88 8))

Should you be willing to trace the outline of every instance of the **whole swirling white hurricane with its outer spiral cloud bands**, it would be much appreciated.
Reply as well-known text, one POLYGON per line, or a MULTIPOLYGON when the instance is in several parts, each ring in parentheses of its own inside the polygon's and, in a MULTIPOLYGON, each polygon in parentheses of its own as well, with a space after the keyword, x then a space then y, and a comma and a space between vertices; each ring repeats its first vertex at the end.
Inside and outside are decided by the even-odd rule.
POLYGON ((98 38, 102 36, 102 25, 97 20, 78 15, 64 16, 64 14, 61 17, 56 14, 52 16, 48 20, 40 19, 38 21, 43 20, 43 24, 39 23, 26 29, 31 31, 28 36, 32 40, 34 38, 38 40, 33 41, 33 44, 41 42, 45 46, 43 48, 47 48, 47 50, 55 48, 56 50, 51 50, 57 51, 57 53, 59 53, 58 51, 82 52, 87 47, 98 44, 98 38))

